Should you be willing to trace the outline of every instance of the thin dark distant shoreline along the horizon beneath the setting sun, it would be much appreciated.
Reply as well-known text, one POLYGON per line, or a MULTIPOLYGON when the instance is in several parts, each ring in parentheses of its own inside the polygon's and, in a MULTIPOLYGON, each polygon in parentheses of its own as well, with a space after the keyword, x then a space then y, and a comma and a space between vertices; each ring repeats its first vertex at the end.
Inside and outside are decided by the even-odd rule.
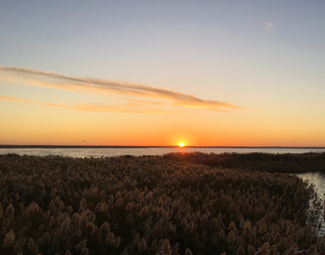
MULTIPOLYGON (((0 145, 0 149, 125 149, 125 148, 180 148, 178 145, 170 146, 101 146, 101 145, 0 145)), ((325 147, 303 146, 184 146, 182 148, 243 148, 243 149, 325 149, 325 147)))

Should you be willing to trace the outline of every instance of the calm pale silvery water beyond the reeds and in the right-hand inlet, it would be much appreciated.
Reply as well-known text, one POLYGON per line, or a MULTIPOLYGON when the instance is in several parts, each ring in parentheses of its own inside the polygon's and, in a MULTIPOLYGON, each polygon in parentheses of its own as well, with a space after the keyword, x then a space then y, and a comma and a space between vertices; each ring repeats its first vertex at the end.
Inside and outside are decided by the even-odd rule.
MULTIPOLYGON (((324 152, 325 149, 296 149, 296 148, 70 148, 70 149, 0 149, 0 154, 16 153, 19 155, 63 155, 70 157, 114 157, 122 155, 163 155, 169 152, 266 152, 266 153, 305 153, 305 152, 324 152)), ((309 180, 317 189, 317 194, 324 201, 325 194, 325 172, 300 173, 296 176, 303 180, 309 180)), ((323 222, 322 232, 325 232, 325 222, 323 222)))

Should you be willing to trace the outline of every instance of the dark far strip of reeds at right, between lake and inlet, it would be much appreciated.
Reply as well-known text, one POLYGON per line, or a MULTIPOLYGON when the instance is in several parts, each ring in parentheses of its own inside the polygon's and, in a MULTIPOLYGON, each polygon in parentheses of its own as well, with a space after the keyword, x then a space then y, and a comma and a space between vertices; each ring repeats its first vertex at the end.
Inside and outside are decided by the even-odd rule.
POLYGON ((203 153, 168 153, 164 159, 176 159, 209 165, 212 167, 241 168, 267 172, 298 173, 308 171, 325 171, 325 152, 308 153, 237 153, 224 152, 203 153))

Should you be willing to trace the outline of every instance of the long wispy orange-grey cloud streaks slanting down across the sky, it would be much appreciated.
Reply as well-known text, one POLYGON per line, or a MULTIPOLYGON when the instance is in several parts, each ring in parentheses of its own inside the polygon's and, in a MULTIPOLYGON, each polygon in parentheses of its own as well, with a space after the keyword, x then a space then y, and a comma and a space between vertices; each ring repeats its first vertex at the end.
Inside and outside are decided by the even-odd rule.
MULTIPOLYGON (((88 77, 70 77, 61 75, 54 72, 35 70, 29 68, 15 68, 15 67, 0 67, 0 79, 9 82, 19 82, 31 86, 39 87, 50 87, 54 89, 63 89, 76 92, 87 92, 87 93, 104 93, 107 95, 119 95, 119 96, 133 96, 133 97, 150 97, 156 99, 163 99, 164 103, 124 98, 132 104, 146 104, 146 105, 176 105, 188 108, 206 109, 209 111, 225 112, 229 109, 246 109, 245 107, 232 105, 228 102, 220 102, 214 100, 204 100, 197 96, 184 94, 177 91, 167 90, 159 87, 145 86, 142 84, 121 82, 121 81, 110 81, 106 79, 96 79, 88 77), (226 109, 225 109, 226 108, 226 109)), ((17 99, 23 100, 23 99, 17 99)), ((21 101, 23 102, 23 101, 21 101)), ((27 103, 27 102, 26 102, 27 103)), ((29 102, 31 103, 31 102, 29 102)), ((37 104, 46 105, 48 103, 37 104)), ((132 105, 131 104, 131 105, 132 105)), ((51 104, 48 104, 51 105, 51 104)), ((51 105, 57 107, 64 107, 69 109, 89 109, 89 111, 101 112, 100 109, 107 107, 113 109, 119 106, 113 105, 51 105), (71 108, 72 107, 72 108, 71 108)), ((125 109, 125 106, 123 108, 125 109)), ((120 109, 122 111, 122 108, 120 109)), ((108 110, 107 110, 108 111, 108 110)), ((163 110, 161 110, 163 112, 163 110)), ((103 110, 103 112, 106 112, 103 110)), ((108 111, 109 112, 109 111, 108 111)), ((127 112, 127 111, 126 111, 127 112)), ((128 112, 133 112, 132 109, 128 109, 128 112)), ((151 111, 150 111, 151 112, 151 111)), ((159 111, 158 111, 159 112, 159 111)))

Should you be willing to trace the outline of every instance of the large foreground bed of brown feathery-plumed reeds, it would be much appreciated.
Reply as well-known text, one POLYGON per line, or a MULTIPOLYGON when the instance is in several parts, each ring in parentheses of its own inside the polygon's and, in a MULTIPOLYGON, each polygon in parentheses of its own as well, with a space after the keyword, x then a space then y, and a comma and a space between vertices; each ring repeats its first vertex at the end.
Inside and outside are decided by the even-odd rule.
POLYGON ((0 254, 324 249, 301 178, 164 158, 0 155, 0 254))

